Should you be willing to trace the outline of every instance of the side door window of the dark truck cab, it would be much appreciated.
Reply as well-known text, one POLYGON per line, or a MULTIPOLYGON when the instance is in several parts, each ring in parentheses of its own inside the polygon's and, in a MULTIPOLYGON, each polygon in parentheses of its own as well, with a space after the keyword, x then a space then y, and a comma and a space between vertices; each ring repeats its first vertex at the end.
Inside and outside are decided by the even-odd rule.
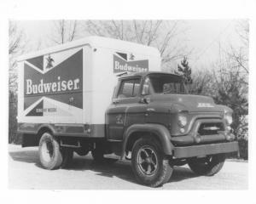
POLYGON ((137 79, 129 79, 121 82, 118 98, 130 98, 137 96, 140 88, 141 80, 137 79))

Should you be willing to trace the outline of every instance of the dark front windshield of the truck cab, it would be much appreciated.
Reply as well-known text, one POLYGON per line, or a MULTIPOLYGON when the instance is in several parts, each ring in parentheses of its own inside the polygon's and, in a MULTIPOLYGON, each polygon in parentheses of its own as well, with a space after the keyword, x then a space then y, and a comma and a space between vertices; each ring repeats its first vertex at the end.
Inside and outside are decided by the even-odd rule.
POLYGON ((171 74, 149 75, 149 81, 156 94, 187 94, 183 78, 171 74))

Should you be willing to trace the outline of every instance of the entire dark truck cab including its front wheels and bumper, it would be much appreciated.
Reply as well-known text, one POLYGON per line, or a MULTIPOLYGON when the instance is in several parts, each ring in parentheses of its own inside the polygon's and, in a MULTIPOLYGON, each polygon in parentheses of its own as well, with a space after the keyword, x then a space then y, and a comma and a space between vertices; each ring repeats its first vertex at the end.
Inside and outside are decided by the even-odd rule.
POLYGON ((131 155, 137 179, 151 186, 169 179, 175 165, 218 173, 225 154, 238 150, 231 123, 229 107, 188 94, 183 77, 165 72, 119 77, 106 112, 108 142, 120 145, 122 158, 131 155))

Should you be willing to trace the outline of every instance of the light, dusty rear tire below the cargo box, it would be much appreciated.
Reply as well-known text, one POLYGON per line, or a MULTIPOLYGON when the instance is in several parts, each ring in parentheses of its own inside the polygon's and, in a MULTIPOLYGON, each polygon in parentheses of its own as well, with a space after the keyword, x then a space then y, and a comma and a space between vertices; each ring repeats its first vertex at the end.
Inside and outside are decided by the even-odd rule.
POLYGON ((58 141, 51 133, 44 133, 39 142, 39 159, 46 169, 61 167, 63 157, 58 141))

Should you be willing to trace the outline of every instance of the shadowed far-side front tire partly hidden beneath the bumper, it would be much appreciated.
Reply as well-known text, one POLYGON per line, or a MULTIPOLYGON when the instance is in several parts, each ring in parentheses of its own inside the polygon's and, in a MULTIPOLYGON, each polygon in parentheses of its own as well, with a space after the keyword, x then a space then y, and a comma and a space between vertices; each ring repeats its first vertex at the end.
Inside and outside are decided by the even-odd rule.
POLYGON ((190 169, 198 175, 212 176, 224 166, 225 154, 207 156, 205 158, 188 159, 190 169))

